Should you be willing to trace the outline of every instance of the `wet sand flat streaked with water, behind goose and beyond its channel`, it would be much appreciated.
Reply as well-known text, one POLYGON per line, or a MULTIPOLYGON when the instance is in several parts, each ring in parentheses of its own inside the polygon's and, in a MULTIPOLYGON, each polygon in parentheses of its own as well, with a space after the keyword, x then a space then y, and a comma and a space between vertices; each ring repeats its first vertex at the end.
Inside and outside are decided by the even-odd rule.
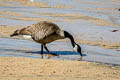
POLYGON ((69 32, 70 31, 73 32, 70 33, 74 36, 75 41, 78 43, 100 46, 103 48, 109 48, 120 51, 119 24, 116 24, 116 22, 117 23, 120 22, 120 20, 117 18, 117 15, 120 12, 117 11, 117 8, 115 8, 118 5, 117 4, 119 2, 118 0, 112 0, 111 3, 109 3, 110 5, 108 3, 99 1, 79 1, 79 0, 73 1, 76 5, 72 5, 71 3, 70 5, 67 5, 63 4, 62 2, 60 2, 60 4, 57 4, 55 2, 55 4, 51 5, 49 4, 50 3, 49 1, 48 2, 42 1, 30 2, 29 0, 0 0, 0 1, 2 2, 0 3, 0 6, 3 7, 3 9, 4 6, 8 7, 8 10, 11 9, 11 11, 7 10, 0 11, 0 18, 1 20, 3 19, 1 22, 1 24, 3 25, 0 26, 1 37, 9 38, 9 35, 12 32, 14 32, 14 30, 17 29, 17 26, 19 28, 22 28, 26 27, 27 25, 30 25, 27 23, 27 25, 22 26, 22 24, 25 24, 26 22, 37 23, 39 21, 52 21, 56 24, 59 23, 58 25, 60 26, 60 28, 67 29, 67 31, 69 32), (7 1, 8 3, 5 3, 5 1, 7 1), (9 4, 9 2, 13 1, 15 3, 9 4), (81 3, 85 4, 86 6, 81 7, 76 2, 80 4, 81 3), (17 4, 19 3, 19 5, 16 5, 16 3, 17 4), (96 6, 98 4, 101 4, 103 5, 103 7, 99 6, 98 7, 90 6, 90 8, 87 7, 93 4, 96 6), (111 7, 112 4, 115 5, 115 7, 114 6, 111 7), (106 7, 106 5, 108 6, 106 7), (17 8, 20 9, 20 11, 17 11, 17 8), (44 10, 46 9, 47 11, 46 10, 42 11, 42 9, 44 10), (57 10, 60 10, 60 12, 57 10), (111 12, 112 10, 114 10, 113 14, 111 12), (8 20, 8 23, 10 25, 4 25, 7 24, 6 19, 8 20), (12 23, 16 22, 15 26, 11 26, 13 24, 10 22, 12 23), (19 22, 20 24, 18 25, 17 23, 19 22), (114 29, 118 31, 112 32, 112 30, 114 29))

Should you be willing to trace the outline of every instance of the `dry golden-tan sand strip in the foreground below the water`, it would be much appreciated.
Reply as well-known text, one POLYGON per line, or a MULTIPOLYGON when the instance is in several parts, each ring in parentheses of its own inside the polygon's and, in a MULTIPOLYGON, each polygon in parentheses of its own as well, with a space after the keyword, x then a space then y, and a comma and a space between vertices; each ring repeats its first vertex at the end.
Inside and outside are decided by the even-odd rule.
POLYGON ((120 80, 120 67, 84 61, 0 57, 0 80, 120 80))

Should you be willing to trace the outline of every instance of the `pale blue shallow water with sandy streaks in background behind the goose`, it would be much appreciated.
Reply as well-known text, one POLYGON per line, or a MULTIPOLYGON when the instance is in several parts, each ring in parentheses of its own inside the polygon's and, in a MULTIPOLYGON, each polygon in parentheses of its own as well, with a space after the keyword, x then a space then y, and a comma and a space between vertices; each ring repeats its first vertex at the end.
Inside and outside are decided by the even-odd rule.
POLYGON ((14 5, 0 6, 1 12, 8 12, 6 14, 0 14, 0 25, 21 25, 26 27, 30 24, 37 23, 40 20, 49 20, 55 21, 54 23, 60 28, 76 35, 79 40, 104 40, 103 42, 109 43, 120 42, 120 31, 116 33, 111 32, 112 30, 120 29, 120 12, 117 10, 120 5, 118 2, 113 2, 112 0, 34 0, 34 2, 45 3, 49 7, 31 6, 32 3, 31 5, 22 5, 22 2, 19 1, 1 1, 1 4, 14 5), (55 8, 54 6, 56 5, 62 7, 55 8), (70 6, 70 8, 64 8, 63 6, 70 6), (14 13, 20 15, 12 15, 14 13), (63 17, 60 15, 54 16, 56 14, 70 15, 63 17), (81 16, 75 16, 77 14, 81 16), (102 22, 101 25, 96 25, 95 23, 100 23, 100 21, 95 22, 94 19, 103 19, 114 25, 102 22), (94 20, 94 23, 89 22, 89 20, 94 20), (93 38, 96 39, 94 40, 93 38))

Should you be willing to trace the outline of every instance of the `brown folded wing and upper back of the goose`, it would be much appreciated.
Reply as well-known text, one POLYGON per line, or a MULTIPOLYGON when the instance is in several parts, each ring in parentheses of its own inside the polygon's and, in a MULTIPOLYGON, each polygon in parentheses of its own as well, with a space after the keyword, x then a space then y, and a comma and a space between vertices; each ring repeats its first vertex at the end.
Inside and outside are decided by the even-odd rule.
POLYGON ((49 35, 56 34, 59 30, 60 28, 56 24, 43 21, 23 28, 20 33, 31 35, 35 40, 41 40, 49 35))

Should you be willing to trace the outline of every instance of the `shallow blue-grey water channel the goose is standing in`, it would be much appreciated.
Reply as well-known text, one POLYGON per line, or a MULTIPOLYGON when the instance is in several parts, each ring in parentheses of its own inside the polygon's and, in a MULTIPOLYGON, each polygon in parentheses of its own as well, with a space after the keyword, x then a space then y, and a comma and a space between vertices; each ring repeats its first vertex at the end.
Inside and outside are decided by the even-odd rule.
MULTIPOLYGON (((0 38, 0 56, 40 58, 40 44, 28 40, 0 38)), ((110 65, 120 65, 120 53, 95 46, 79 44, 82 47, 85 61, 100 62, 110 65)), ((53 42, 47 45, 48 49, 59 56, 51 56, 49 59, 79 60, 80 55, 73 51, 69 42, 53 42)), ((44 58, 48 58, 44 51, 44 58)))

